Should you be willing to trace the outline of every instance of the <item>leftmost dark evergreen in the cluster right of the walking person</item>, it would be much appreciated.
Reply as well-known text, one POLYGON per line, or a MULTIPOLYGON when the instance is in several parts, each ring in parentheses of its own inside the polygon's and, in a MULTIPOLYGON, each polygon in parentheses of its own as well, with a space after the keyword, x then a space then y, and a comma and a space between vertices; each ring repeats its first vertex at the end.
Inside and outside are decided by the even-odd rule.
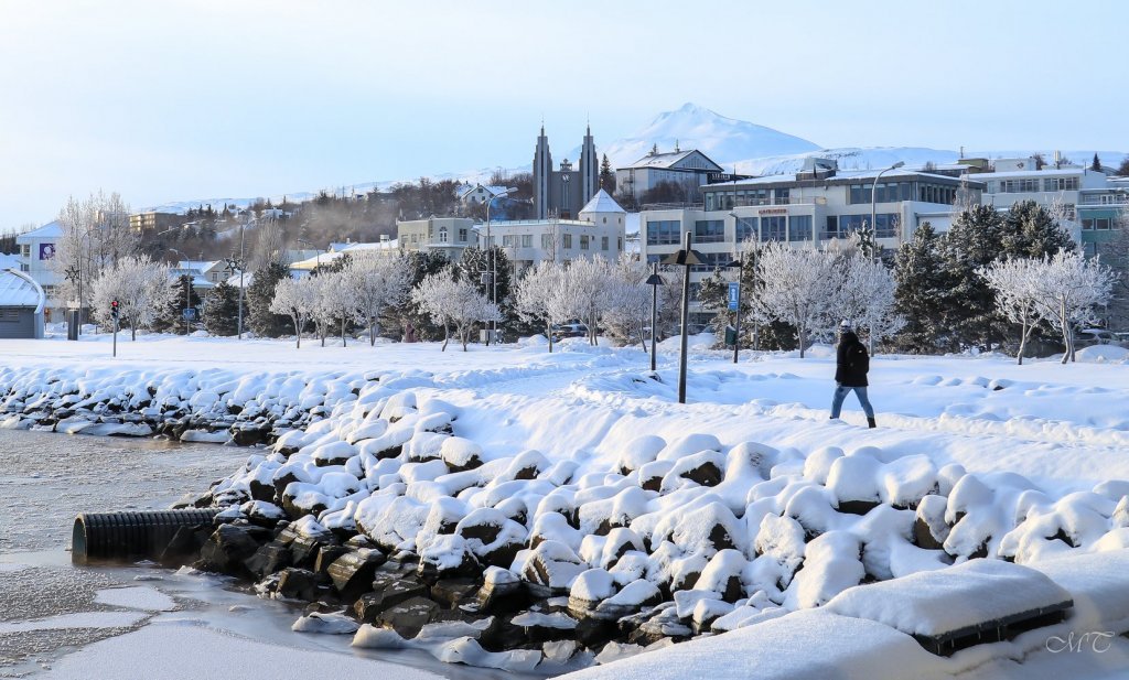
POLYGON ((946 276, 940 242, 929 222, 913 232, 913 239, 898 249, 894 260, 894 302, 905 325, 898 346, 910 352, 934 352, 947 332, 940 326, 946 276))

